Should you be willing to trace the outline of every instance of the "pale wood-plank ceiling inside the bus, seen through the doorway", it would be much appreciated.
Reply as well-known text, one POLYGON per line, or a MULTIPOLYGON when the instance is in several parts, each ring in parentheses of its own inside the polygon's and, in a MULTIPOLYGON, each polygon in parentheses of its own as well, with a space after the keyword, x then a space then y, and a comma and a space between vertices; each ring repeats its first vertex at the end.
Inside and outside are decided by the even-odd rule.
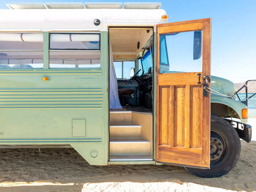
POLYGON ((152 30, 146 29, 110 29, 110 43, 114 59, 136 59, 139 51, 151 37, 152 30), (137 48, 140 42, 139 49, 137 48))

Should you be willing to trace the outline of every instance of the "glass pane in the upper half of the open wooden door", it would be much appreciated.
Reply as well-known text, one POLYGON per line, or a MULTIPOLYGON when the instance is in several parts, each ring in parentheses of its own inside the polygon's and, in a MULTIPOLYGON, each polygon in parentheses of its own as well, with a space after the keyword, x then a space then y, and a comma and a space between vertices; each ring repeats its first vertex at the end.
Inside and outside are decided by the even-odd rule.
POLYGON ((160 35, 160 73, 201 71, 202 31, 160 35))

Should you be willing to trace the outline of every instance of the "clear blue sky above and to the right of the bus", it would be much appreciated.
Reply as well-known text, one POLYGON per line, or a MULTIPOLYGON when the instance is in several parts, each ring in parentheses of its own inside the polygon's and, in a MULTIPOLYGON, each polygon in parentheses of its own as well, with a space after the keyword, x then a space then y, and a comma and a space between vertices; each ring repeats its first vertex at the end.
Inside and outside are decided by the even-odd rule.
MULTIPOLYGON (((7 3, 28 2, 72 2, 72 0, 1 0, 0 8, 8 8, 5 5, 7 3)), ((120 1, 100 0, 99 2, 120 1)), ((211 75, 229 79, 234 83, 256 79, 256 0, 162 0, 159 2, 162 2, 161 9, 168 14, 168 22, 211 18, 211 75)))

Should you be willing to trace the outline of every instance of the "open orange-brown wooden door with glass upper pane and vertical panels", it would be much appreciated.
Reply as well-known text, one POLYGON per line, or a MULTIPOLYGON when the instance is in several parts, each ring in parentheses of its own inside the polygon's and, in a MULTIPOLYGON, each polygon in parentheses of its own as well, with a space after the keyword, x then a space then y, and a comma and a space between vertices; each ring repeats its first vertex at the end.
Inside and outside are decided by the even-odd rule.
MULTIPOLYGON (((191 44, 190 41, 188 43, 191 44)), ((182 44, 184 42, 177 46, 182 44)), ((195 53, 195 47, 192 46, 192 49, 192 53, 195 53)), ((210 87, 210 49, 210 18, 157 25, 157 162, 205 169, 210 167, 210 94, 203 91, 206 85, 210 87), (162 38, 173 35, 170 36, 172 40, 176 34, 189 31, 194 34, 194 46, 194 31, 201 34, 201 42, 198 43, 202 47, 198 49, 201 50, 200 71, 193 69, 192 63, 192 67, 187 67, 189 72, 173 72, 172 68, 175 67, 184 66, 184 71, 187 70, 186 63, 179 63, 179 58, 176 58, 181 55, 181 59, 184 59, 182 57, 186 55, 178 53, 165 59, 165 54, 177 49, 170 49, 170 46, 175 46, 174 41, 168 45, 165 40, 164 51, 162 38), (175 65, 170 64, 173 60, 175 65), (208 76, 208 79, 203 79, 204 76, 208 76)))

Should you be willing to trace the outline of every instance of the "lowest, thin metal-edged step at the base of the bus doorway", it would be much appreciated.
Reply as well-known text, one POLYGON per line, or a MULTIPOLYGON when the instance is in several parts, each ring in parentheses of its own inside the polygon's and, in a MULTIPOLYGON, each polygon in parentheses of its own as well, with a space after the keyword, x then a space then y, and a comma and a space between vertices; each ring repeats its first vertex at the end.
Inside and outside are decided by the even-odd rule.
POLYGON ((110 155, 109 161, 152 161, 151 155, 110 155))

